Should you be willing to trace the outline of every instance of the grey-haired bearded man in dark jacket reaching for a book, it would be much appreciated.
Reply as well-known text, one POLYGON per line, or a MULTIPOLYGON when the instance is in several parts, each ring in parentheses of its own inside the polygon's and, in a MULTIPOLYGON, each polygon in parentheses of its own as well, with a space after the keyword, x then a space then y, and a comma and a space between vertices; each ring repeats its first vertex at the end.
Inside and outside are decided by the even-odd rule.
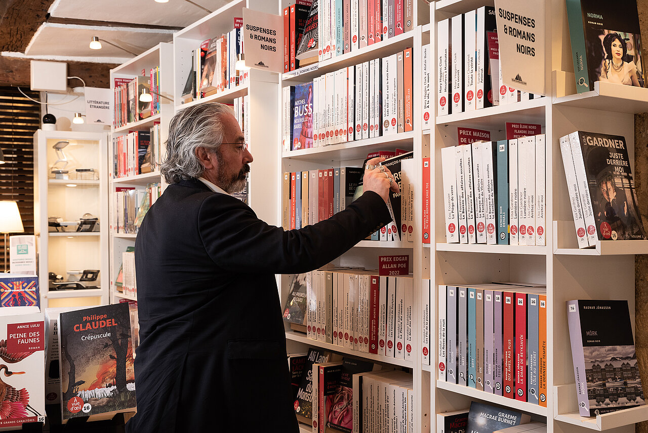
POLYGON ((128 432, 299 431, 274 274, 318 268, 388 224, 398 185, 372 159, 364 194, 345 211, 284 231, 229 195, 252 161, 229 107, 200 104, 171 120, 161 169, 170 185, 135 242, 140 345, 128 432))

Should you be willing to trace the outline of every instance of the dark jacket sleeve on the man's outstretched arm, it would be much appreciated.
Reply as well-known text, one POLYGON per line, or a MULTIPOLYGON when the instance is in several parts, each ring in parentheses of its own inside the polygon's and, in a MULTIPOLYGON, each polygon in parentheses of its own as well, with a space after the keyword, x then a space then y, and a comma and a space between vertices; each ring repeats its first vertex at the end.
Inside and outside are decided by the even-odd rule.
POLYGON ((298 230, 270 226, 226 194, 209 196, 198 220, 203 245, 216 266, 234 272, 297 274, 329 263, 391 217, 384 200, 367 191, 333 217, 298 230))

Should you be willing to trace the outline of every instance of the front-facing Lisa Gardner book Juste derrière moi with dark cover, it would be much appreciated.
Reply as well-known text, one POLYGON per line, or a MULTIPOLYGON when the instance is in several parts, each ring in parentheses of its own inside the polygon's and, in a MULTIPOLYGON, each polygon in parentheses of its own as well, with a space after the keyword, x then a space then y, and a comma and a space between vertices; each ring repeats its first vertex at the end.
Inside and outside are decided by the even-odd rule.
POLYGON ((577 131, 570 143, 576 180, 584 189, 579 189, 584 217, 587 221, 593 211, 598 239, 646 239, 625 137, 577 131))

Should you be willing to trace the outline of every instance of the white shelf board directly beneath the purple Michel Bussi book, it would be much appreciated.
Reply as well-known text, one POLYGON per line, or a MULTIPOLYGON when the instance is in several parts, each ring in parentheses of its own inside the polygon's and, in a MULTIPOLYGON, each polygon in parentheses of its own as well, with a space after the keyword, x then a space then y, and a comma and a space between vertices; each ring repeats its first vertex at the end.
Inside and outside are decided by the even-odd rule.
POLYGON ((365 140, 347 141, 337 145, 318 146, 308 149, 284 152, 283 158, 303 159, 330 165, 332 161, 347 161, 349 159, 365 159, 369 152, 378 150, 393 150, 395 147, 411 149, 414 139, 413 132, 382 135, 365 140))

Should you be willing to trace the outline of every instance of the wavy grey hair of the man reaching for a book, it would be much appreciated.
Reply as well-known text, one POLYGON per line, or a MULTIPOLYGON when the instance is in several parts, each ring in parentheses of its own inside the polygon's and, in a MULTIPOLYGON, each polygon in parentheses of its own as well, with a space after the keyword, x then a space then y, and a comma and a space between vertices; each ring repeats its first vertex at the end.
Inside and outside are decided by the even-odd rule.
POLYGON ((168 126, 167 156, 160 167, 167 183, 198 178, 205 167, 196 158, 196 148, 218 152, 223 141, 222 115, 233 114, 229 106, 205 102, 180 110, 168 126))

